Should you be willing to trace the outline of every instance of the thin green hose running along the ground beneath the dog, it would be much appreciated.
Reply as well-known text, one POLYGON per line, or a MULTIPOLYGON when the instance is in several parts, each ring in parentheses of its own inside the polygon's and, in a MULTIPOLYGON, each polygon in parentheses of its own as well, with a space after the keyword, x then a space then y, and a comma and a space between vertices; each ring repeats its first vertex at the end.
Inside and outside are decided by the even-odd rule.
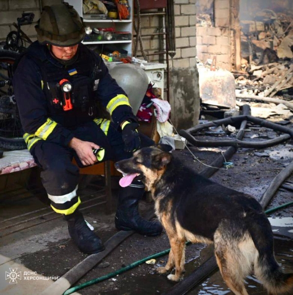
MULTIPOLYGON (((289 207, 289 206, 291 206, 291 205, 293 205, 293 202, 285 203, 285 204, 283 204, 283 205, 280 205, 280 206, 277 206, 277 207, 274 207, 274 208, 271 208, 271 209, 265 210, 264 212, 265 212, 266 214, 269 214, 269 213, 272 213, 272 212, 274 212, 274 211, 277 211, 278 209, 281 209, 281 208, 284 208, 284 207, 289 207)), ((186 244, 191 244, 191 242, 187 242, 186 244)), ((107 280, 107 279, 110 279, 110 278, 112 278, 112 277, 114 277, 114 276, 116 276, 116 275, 118 275, 118 274, 121 274, 121 273, 123 273, 123 272, 125 272, 125 271, 127 271, 127 270, 129 270, 129 269, 132 269, 132 268, 134 268, 134 267, 136 267, 136 266, 139 266, 139 265, 145 263, 146 261, 148 261, 148 260, 150 260, 150 259, 161 257, 161 256, 163 256, 163 255, 165 255, 165 254, 168 254, 169 252, 170 252, 170 249, 166 249, 166 250, 164 250, 164 251, 162 251, 162 252, 160 252, 160 253, 153 254, 153 255, 151 255, 151 256, 148 256, 148 257, 146 257, 146 258, 143 258, 143 259, 141 259, 141 260, 138 260, 138 261, 136 261, 136 262, 133 262, 133 263, 131 263, 130 265, 125 266, 125 267, 122 267, 122 268, 120 268, 120 269, 118 269, 118 270, 116 270, 116 271, 114 271, 114 272, 108 273, 108 274, 103 275, 103 276, 101 276, 101 277, 98 277, 98 278, 96 278, 96 279, 93 279, 93 280, 87 281, 87 282, 85 282, 85 283, 83 283, 83 284, 80 284, 80 285, 77 285, 77 286, 75 286, 75 287, 69 288, 69 289, 67 289, 67 290, 64 292, 63 295, 69 295, 69 294, 72 294, 72 293, 74 293, 74 292, 76 292, 76 291, 78 291, 78 290, 80 290, 80 289, 85 288, 85 287, 88 287, 88 286, 94 285, 94 284, 96 284, 96 283, 99 283, 99 282, 104 281, 104 280, 107 280)))

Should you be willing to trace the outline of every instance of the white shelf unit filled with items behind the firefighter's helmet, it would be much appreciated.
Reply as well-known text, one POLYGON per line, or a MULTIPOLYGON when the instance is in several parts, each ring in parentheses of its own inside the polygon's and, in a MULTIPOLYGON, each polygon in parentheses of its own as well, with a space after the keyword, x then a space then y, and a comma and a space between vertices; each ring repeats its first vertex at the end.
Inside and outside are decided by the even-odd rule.
POLYGON ((119 20, 106 17, 103 14, 84 14, 83 0, 67 0, 83 18, 86 27, 91 31, 87 34, 83 43, 86 45, 96 45, 97 51, 107 54, 111 50, 119 51, 128 56, 132 56, 132 0, 128 0, 130 7, 130 18, 119 20), (107 31, 108 29, 108 31, 107 31), (109 47, 110 46, 110 47, 109 47))

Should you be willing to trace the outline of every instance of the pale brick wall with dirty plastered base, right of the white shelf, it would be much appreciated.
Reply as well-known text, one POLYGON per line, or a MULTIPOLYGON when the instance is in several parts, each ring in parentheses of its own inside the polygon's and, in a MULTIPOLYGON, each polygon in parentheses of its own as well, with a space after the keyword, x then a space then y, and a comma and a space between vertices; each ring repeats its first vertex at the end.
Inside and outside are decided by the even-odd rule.
MULTIPOLYGON (((171 120, 176 128, 190 128, 198 123, 199 88, 196 69, 196 0, 173 0, 175 14, 176 54, 169 57, 169 102, 171 120)), ((159 12, 145 10, 145 12, 159 12)), ((135 11, 134 11, 135 13, 135 11)), ((137 23, 137 20, 135 19, 137 23)), ((141 34, 162 32, 162 16, 141 17, 141 34)), ((165 50, 162 36, 143 36, 143 49, 146 54, 165 50)), ((142 58, 140 46, 136 57, 142 58)), ((166 62, 165 55, 150 55, 149 61, 166 62)), ((166 87, 166 83, 165 83, 166 87)), ((165 96, 164 96, 165 97, 165 96)))

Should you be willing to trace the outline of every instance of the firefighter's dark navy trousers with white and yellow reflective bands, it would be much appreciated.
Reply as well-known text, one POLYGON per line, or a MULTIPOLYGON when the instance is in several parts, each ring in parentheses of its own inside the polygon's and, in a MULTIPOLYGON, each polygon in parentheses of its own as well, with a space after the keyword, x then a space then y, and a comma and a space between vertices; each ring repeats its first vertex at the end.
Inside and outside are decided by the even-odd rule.
MULTIPOLYGON (((105 149, 102 161, 119 161, 132 156, 131 152, 124 150, 121 132, 117 131, 110 121, 88 122, 82 126, 71 129, 74 137, 97 144, 105 149), (105 128, 106 126, 106 128, 105 128)), ((154 142, 140 134, 141 147, 147 147, 154 142)), ((71 214, 79 206, 80 199, 77 194, 79 169, 72 163, 74 157, 80 167, 83 167, 75 151, 69 147, 58 144, 38 141, 31 153, 37 165, 42 169, 41 179, 44 188, 51 200, 51 207, 58 213, 71 214)))

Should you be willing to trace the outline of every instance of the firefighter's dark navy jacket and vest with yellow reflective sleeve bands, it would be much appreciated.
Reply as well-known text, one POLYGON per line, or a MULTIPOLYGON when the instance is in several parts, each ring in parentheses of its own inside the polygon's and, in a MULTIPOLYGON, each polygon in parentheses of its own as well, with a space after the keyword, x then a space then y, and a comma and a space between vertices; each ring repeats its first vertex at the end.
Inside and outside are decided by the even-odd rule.
POLYGON ((136 121, 126 93, 110 76, 102 59, 82 43, 77 55, 72 64, 64 65, 47 46, 36 41, 19 61, 13 87, 29 149, 39 140, 67 146, 73 138, 70 129, 96 118, 95 100, 118 126, 127 119, 136 121), (72 109, 66 111, 68 96, 64 95, 68 94, 60 87, 64 79, 72 86, 72 109))

